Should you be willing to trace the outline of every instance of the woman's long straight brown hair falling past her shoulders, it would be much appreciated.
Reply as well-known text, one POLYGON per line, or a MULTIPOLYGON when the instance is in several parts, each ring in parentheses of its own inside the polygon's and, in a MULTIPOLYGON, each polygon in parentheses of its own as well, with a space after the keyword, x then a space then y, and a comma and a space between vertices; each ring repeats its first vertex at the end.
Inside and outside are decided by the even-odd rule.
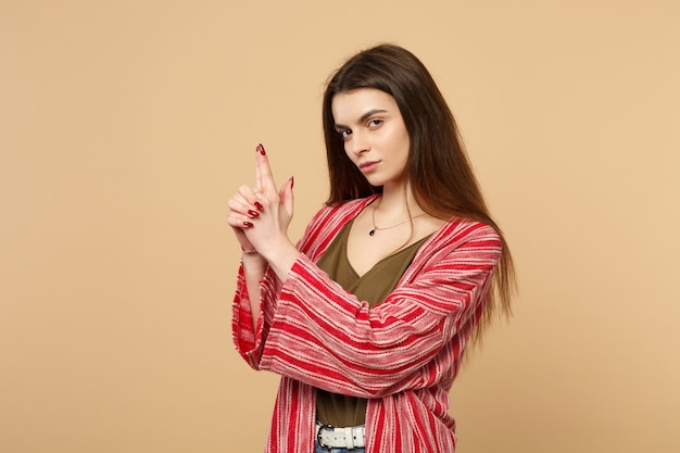
POLYGON ((418 205, 441 219, 464 217, 483 222, 501 237, 503 251, 499 267, 483 315, 473 335, 477 342, 499 311, 506 317, 512 314, 513 259, 501 228, 489 213, 446 101, 425 65, 406 49, 380 45, 364 50, 350 58, 329 79, 323 103, 330 175, 330 196, 326 203, 382 191, 381 187, 368 184, 347 156, 335 127, 333 97, 357 88, 375 88, 396 101, 411 140, 406 177, 418 205))

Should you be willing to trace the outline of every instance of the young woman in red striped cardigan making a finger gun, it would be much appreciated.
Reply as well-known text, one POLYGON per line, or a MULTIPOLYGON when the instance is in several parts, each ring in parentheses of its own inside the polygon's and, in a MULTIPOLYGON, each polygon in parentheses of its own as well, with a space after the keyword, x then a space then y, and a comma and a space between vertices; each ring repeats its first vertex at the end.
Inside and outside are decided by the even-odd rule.
POLYGON ((411 52, 348 60, 323 117, 330 197, 297 246, 293 180, 277 189, 262 146, 229 201, 234 340, 281 375, 266 451, 453 452, 449 390, 468 340, 509 314, 509 251, 411 52))

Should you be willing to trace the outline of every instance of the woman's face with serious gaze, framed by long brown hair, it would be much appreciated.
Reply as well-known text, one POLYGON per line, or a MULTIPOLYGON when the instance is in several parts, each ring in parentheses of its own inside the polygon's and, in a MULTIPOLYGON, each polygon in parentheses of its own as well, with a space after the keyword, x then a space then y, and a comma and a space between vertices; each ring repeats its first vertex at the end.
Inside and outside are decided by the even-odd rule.
POLYGON ((372 186, 388 189, 405 183, 408 131, 394 98, 358 88, 336 95, 331 111, 344 152, 372 186))

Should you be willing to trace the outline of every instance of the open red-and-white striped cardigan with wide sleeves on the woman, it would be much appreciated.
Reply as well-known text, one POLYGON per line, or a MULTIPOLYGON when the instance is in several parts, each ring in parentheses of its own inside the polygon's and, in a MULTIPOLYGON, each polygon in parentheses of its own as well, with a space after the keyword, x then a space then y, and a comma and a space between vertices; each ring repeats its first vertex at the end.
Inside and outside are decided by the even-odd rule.
POLYGON ((325 206, 314 216, 286 281, 269 269, 260 284, 256 332, 239 269, 236 348, 254 369, 281 375, 268 453, 314 451, 316 388, 368 399, 367 453, 455 450, 449 390, 484 306, 501 241, 479 222, 444 224, 394 291, 369 309, 314 263, 375 197, 325 206))

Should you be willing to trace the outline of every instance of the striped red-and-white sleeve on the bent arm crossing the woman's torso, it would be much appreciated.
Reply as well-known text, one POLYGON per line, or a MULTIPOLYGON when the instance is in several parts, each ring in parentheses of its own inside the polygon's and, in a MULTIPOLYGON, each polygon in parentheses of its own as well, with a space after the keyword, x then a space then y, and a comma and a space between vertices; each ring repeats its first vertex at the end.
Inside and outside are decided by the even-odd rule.
POLYGON ((260 367, 360 398, 450 377, 487 299, 501 241, 480 223, 438 237, 374 309, 301 255, 280 288, 260 367))

